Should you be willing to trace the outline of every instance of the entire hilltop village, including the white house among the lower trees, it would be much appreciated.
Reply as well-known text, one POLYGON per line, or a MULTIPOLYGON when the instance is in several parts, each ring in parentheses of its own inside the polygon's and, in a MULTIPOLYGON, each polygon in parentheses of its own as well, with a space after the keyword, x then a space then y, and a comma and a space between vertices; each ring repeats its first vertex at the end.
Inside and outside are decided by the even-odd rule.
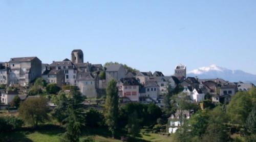
MULTIPOLYGON (((16 96, 21 101, 38 97, 42 93, 34 89, 38 78, 64 92, 76 88, 87 98, 83 104, 93 104, 97 109, 101 109, 99 100, 106 96, 106 86, 113 79, 117 82, 120 104, 155 104, 161 109, 171 104, 170 94, 178 94, 203 110, 209 103, 228 104, 238 91, 249 91, 255 87, 252 83, 228 82, 220 78, 187 77, 186 66, 182 64, 174 67, 173 76, 165 76, 159 71, 142 72, 117 62, 92 64, 84 62, 82 50, 73 50, 71 59, 53 61, 51 64, 44 64, 37 57, 11 58, 8 62, 0 63, 1 109, 10 108, 16 96)), ((51 99, 48 105, 53 109, 57 106, 51 99)), ((190 119, 192 114, 194 109, 170 110, 166 131, 176 133, 183 124, 180 117, 190 119)))

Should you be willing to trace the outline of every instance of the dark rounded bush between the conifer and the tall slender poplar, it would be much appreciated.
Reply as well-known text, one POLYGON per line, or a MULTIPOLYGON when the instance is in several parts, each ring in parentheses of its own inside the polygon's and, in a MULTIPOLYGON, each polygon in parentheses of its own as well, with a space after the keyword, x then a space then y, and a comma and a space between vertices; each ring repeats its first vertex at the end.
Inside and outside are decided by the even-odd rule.
POLYGON ((85 123, 87 127, 96 128, 103 125, 103 114, 96 109, 90 109, 86 112, 85 123))

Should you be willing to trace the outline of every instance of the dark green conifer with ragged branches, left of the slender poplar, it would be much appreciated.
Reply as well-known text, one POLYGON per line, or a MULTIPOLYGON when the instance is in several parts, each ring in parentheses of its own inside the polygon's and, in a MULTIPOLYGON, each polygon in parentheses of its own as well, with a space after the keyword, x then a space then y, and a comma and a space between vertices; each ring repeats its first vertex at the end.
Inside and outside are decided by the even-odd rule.
POLYGON ((84 111, 82 102, 84 98, 78 90, 72 90, 68 98, 68 117, 63 120, 66 132, 61 141, 79 141, 82 126, 84 126, 84 111))

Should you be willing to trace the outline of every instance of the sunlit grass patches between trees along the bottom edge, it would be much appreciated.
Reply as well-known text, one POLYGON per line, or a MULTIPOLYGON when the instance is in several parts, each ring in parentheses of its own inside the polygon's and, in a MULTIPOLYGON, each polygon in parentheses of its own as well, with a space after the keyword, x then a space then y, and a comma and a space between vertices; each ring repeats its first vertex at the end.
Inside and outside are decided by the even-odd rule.
MULTIPOLYGON (((10 141, 35 141, 35 142, 57 142, 60 141, 61 134, 65 132, 62 128, 54 125, 42 126, 36 129, 36 131, 31 130, 30 128, 24 128, 19 132, 9 133, 7 136, 10 138, 10 141)), ((88 131, 89 132, 89 131, 88 131)), ((121 142, 118 139, 112 139, 109 137, 109 132, 105 129, 90 129, 90 133, 85 132, 80 139, 87 138, 88 136, 92 137, 96 142, 121 142)), ((153 141, 153 142, 169 142, 172 137, 168 137, 160 134, 146 133, 141 134, 140 137, 137 137, 134 141, 153 141)))

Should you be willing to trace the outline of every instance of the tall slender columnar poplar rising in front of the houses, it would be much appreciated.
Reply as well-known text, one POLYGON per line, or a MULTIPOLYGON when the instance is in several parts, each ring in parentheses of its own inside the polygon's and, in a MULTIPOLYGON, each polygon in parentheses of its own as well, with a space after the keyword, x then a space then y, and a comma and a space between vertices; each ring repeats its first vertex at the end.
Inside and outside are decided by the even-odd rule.
POLYGON ((116 81, 111 80, 106 87, 106 100, 105 100, 105 120, 106 125, 112 133, 112 137, 115 137, 117 129, 118 118, 118 89, 116 87, 116 81))

